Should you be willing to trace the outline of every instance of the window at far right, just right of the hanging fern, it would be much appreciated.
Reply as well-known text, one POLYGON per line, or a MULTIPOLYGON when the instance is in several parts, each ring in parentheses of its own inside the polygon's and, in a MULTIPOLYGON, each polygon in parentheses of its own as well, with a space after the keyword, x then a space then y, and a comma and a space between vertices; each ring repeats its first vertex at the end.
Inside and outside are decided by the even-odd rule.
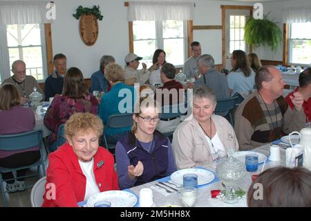
POLYGON ((290 24, 288 41, 290 64, 310 64, 311 62, 311 22, 290 24))

